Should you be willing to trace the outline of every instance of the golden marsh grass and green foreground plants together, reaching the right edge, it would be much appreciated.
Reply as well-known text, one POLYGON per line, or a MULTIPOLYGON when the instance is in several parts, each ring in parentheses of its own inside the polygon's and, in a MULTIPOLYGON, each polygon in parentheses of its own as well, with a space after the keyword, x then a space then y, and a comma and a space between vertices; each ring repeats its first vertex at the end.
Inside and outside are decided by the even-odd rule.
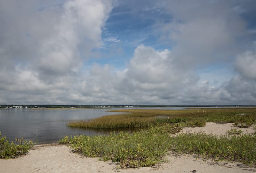
POLYGON ((226 135, 220 136, 192 131, 170 135, 180 132, 183 127, 203 127, 206 122, 232 122, 237 127, 252 126, 255 124, 256 109, 129 109, 115 112, 125 113, 77 120, 70 122, 68 126, 111 128, 112 131, 115 128, 136 127, 141 130, 108 135, 65 136, 60 143, 68 144, 75 152, 85 156, 119 162, 122 168, 152 166, 166 162, 165 156, 168 152, 192 154, 197 158, 213 158, 216 161, 256 163, 256 133, 243 134, 242 130, 232 128, 226 135))

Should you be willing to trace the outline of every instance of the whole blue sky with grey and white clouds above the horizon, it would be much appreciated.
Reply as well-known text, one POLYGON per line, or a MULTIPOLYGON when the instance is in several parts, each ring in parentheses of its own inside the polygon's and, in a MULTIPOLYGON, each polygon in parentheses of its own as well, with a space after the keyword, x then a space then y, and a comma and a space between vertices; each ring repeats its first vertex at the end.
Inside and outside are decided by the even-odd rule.
POLYGON ((255 0, 0 0, 0 105, 256 105, 255 0))

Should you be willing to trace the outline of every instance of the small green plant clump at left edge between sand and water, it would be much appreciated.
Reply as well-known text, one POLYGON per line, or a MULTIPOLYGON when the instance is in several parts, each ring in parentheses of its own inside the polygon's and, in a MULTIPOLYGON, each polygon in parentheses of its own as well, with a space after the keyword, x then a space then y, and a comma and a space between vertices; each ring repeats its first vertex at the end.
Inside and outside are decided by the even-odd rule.
MULTIPOLYGON (((1 137, 1 132, 0 132, 1 137)), ((9 159, 13 156, 25 154, 36 143, 31 141, 25 141, 22 139, 16 139, 16 144, 12 141, 6 140, 6 136, 0 138, 0 158, 9 159)))

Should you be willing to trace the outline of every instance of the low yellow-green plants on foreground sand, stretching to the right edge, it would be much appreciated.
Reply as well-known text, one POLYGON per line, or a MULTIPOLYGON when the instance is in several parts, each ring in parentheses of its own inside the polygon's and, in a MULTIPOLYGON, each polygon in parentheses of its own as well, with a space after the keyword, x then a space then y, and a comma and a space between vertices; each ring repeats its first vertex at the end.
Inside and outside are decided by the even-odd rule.
POLYGON ((169 135, 181 129, 181 123, 161 123, 134 133, 66 136, 60 143, 69 144, 75 152, 85 156, 119 162, 121 168, 167 162, 165 156, 168 151, 216 161, 256 163, 256 133, 239 136, 217 136, 202 132, 180 133, 176 137, 169 135))

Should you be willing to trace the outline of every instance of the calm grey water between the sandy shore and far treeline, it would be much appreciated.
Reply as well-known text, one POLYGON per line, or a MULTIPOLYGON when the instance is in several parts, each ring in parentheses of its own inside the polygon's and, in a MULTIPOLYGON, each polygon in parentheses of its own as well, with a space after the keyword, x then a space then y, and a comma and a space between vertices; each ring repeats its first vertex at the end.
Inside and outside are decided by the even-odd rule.
MULTIPOLYGON (((103 115, 119 114, 106 112, 111 109, 0 109, 0 132, 10 141, 24 138, 33 142, 56 143, 65 135, 107 134, 106 130, 71 128, 70 120, 92 119, 103 115)), ((124 109, 124 108, 122 108, 124 109)), ((125 108, 129 109, 129 108, 125 108)), ((131 109, 131 108, 130 108, 131 109)), ((132 108, 136 109, 136 108, 132 108)), ((143 109, 143 108, 139 108, 143 109)), ((146 109, 184 109, 183 107, 146 108, 146 109)), ((127 130, 127 129, 126 129, 127 130)))

